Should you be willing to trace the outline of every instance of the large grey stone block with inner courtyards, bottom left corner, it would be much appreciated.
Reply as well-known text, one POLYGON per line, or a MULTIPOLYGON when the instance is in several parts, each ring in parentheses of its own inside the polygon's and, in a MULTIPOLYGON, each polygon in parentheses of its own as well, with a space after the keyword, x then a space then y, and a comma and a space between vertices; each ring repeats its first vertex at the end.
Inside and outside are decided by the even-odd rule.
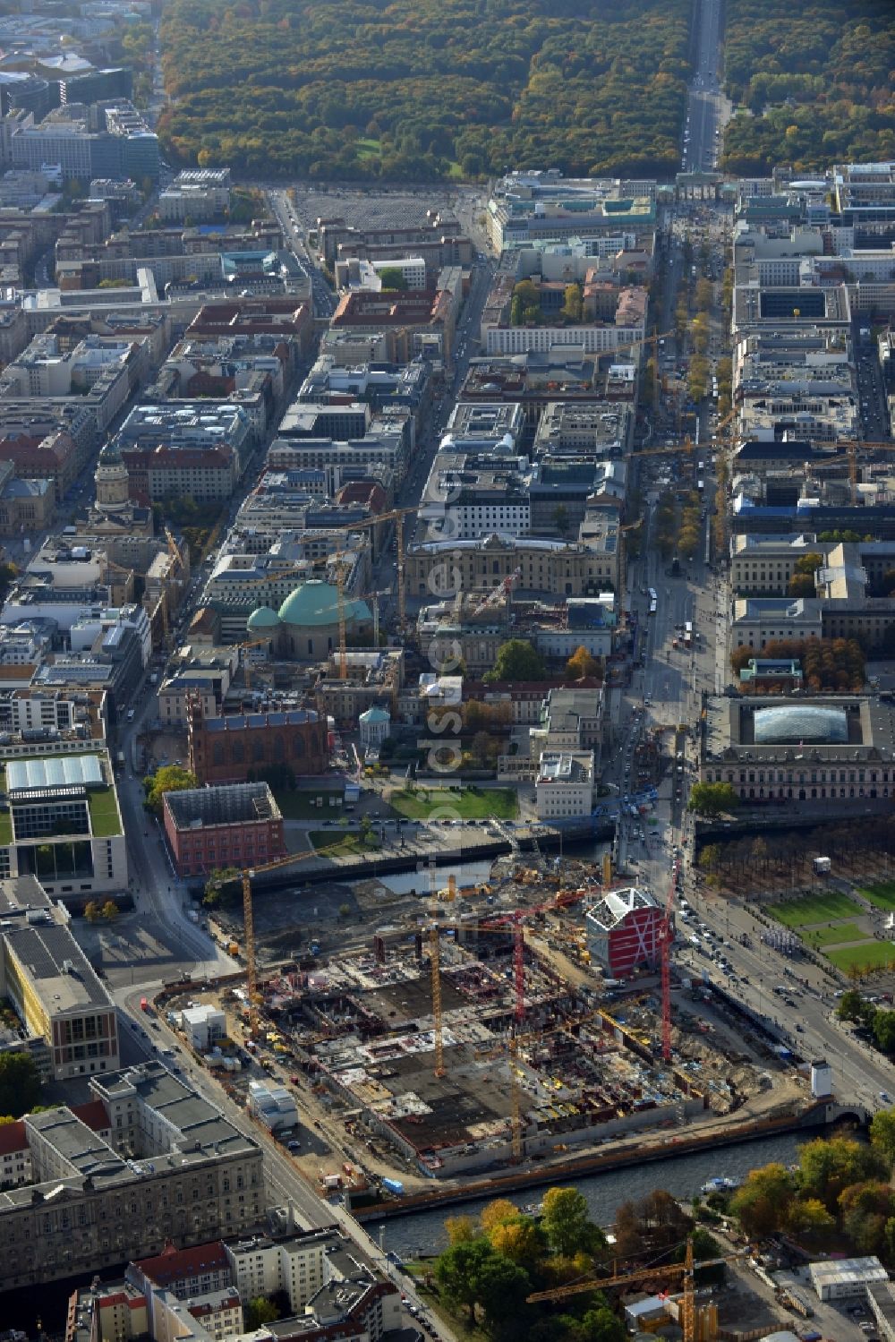
POLYGON ((24 1118, 34 1182, 0 1193, 3 1290, 102 1272, 166 1241, 239 1236, 264 1217, 262 1150, 150 1062, 90 1088, 103 1138, 58 1107, 24 1118))

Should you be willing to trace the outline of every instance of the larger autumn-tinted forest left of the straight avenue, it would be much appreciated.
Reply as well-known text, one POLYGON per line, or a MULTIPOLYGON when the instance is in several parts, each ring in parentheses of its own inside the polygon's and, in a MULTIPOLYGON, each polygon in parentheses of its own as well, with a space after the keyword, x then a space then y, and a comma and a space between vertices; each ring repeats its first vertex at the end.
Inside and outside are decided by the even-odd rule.
POLYGON ((170 0, 160 133, 263 178, 671 176, 691 0, 170 0))

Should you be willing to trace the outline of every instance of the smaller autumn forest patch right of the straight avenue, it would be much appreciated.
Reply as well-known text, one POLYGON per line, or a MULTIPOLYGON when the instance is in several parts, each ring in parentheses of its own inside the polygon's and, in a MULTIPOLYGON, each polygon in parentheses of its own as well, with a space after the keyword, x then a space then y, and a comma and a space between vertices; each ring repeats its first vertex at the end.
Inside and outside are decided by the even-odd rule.
POLYGON ((729 0, 721 166, 814 172, 895 158, 892 0, 729 0))

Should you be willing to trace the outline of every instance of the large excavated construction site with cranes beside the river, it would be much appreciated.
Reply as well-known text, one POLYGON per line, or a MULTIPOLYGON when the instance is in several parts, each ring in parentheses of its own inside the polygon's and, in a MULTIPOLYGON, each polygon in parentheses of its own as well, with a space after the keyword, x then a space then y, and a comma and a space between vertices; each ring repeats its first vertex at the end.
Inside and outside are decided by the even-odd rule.
POLYGON ((228 994, 228 1032, 287 1074, 342 1153, 376 1153, 378 1173, 413 1186, 804 1095, 768 1040, 672 976, 657 900, 652 943, 641 937, 655 953, 620 981, 588 949, 590 914, 627 907, 620 892, 511 859, 494 878, 400 902, 360 949, 252 965, 254 989, 228 994))

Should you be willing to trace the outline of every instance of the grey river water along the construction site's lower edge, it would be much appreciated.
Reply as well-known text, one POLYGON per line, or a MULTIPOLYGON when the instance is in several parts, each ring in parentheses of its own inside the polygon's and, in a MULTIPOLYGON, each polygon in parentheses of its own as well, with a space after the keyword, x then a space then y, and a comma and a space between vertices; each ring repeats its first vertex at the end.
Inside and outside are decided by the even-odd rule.
MULTIPOLYGON (((726 1176, 743 1180, 749 1170, 758 1165, 780 1161, 792 1165, 798 1157, 798 1146, 810 1141, 817 1133, 778 1133, 755 1142, 742 1142, 739 1146, 725 1146, 717 1151, 699 1151, 692 1155, 674 1155, 662 1162, 633 1166, 623 1170, 607 1170, 605 1174, 589 1174, 570 1180, 588 1200, 590 1216, 597 1225, 612 1225, 616 1208, 621 1202, 645 1197, 655 1188, 664 1188, 675 1197, 690 1198, 699 1192, 710 1178, 726 1176)), ((519 1206, 537 1202, 543 1189, 523 1189, 510 1197, 519 1206)), ((447 1247, 444 1219, 447 1216, 478 1216, 487 1198, 478 1202, 464 1202, 462 1206, 439 1208, 432 1212, 415 1212, 411 1216, 393 1216, 382 1221, 382 1244, 400 1257, 413 1257, 419 1253, 439 1253, 447 1247)), ((373 1239, 380 1237, 380 1224, 366 1223, 373 1239)))

